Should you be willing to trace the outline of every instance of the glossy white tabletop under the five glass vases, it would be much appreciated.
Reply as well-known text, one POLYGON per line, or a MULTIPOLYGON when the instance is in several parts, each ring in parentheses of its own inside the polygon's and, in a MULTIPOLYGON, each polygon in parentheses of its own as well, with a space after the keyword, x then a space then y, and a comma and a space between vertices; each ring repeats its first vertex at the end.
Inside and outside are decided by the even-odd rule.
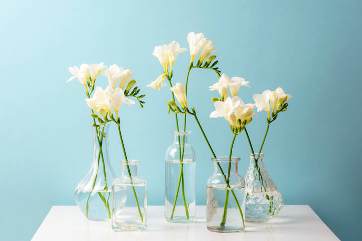
POLYGON ((206 229, 206 207, 196 207, 191 224, 168 223, 163 206, 147 207, 147 231, 114 232, 110 221, 89 221, 76 206, 53 206, 32 241, 336 241, 339 240, 307 205, 286 205, 265 223, 246 222, 233 234, 206 229))

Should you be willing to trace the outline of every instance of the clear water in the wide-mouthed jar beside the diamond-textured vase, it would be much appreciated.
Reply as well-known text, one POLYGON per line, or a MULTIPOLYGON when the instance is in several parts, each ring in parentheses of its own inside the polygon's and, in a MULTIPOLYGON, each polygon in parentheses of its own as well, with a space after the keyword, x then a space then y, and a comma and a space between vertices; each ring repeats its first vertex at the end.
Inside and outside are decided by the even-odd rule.
POLYGON ((239 202, 240 208, 243 213, 243 218, 239 212, 238 206, 235 202, 235 199, 229 192, 228 208, 226 215, 226 222, 224 226, 220 226, 223 214, 224 214, 224 204, 226 196, 226 185, 216 185, 216 187, 207 187, 206 188, 206 218, 207 218, 207 229, 216 232, 239 232, 244 230, 245 226, 243 219, 245 220, 244 212, 244 188, 233 189, 235 196, 239 202))

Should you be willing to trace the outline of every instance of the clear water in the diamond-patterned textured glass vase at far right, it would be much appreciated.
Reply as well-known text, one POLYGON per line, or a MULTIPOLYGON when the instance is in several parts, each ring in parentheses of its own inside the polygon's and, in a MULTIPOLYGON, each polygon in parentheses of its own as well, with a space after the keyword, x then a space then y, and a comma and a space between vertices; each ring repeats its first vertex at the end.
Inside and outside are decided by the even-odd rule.
POLYGON ((283 207, 283 200, 277 190, 267 192, 250 191, 246 193, 245 200, 245 216, 249 222, 264 222, 272 219, 281 212, 283 207))

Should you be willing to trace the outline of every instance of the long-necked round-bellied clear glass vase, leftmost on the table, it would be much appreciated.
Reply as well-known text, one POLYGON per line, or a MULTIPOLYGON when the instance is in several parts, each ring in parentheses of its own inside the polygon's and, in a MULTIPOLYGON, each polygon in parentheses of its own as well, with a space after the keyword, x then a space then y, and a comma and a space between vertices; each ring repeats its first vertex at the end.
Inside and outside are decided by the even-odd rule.
POLYGON ((108 158, 109 123, 93 128, 93 158, 86 176, 78 183, 75 199, 90 220, 110 219, 111 184, 115 176, 108 158))

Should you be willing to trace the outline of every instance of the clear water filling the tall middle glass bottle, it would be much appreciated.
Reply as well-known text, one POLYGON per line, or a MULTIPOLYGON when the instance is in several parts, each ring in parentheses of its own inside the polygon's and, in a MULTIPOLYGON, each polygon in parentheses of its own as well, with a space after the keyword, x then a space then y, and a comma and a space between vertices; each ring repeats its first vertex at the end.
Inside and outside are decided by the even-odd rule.
POLYGON ((196 162, 193 160, 183 160, 182 167, 184 199, 188 210, 188 219, 183 202, 182 181, 180 183, 175 211, 171 219, 177 187, 179 184, 180 170, 180 160, 166 161, 165 218, 169 222, 192 222, 195 219, 196 206, 196 162))

